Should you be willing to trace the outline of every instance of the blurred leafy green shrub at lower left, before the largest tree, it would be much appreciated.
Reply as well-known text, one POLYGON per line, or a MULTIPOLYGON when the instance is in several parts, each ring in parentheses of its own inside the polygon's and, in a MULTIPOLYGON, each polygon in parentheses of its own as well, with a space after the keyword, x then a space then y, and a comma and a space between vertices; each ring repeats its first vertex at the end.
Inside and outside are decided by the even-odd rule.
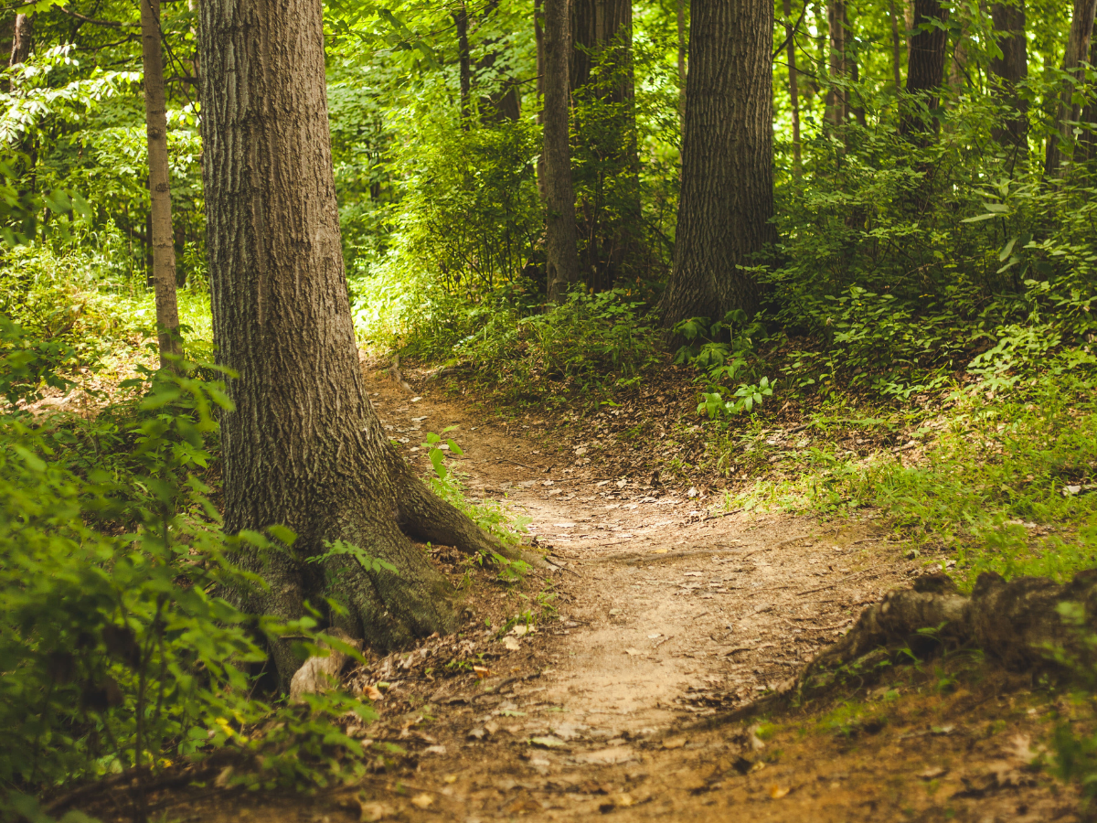
POLYGON ((361 753, 332 720, 369 718, 367 706, 252 695, 267 641, 305 638, 304 653, 337 640, 310 617, 250 616, 230 599, 265 585, 242 556, 281 551, 292 534, 222 532, 202 476, 214 409, 228 401, 194 373, 183 363, 180 374, 149 374, 147 393, 91 421, 0 419, 8 791, 155 770, 225 746, 251 758, 241 760, 255 764, 241 769, 249 785, 323 783, 353 768, 339 751, 361 753))

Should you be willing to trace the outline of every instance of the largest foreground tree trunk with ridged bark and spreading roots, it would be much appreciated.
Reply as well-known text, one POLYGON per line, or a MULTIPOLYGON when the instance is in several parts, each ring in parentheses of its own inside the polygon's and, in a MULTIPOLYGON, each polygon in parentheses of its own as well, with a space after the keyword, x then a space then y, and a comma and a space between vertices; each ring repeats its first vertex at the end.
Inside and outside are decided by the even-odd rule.
MULTIPOLYGON (((222 419, 225 528, 283 525, 265 593, 284 618, 335 598, 336 628, 392 647, 454 625, 451 588, 409 535, 496 542, 414 476, 363 388, 340 248, 320 0, 203 0, 202 125, 214 341, 238 376, 222 419), (397 573, 337 554, 342 540, 397 573)), ((260 559, 255 559, 256 563, 260 559)), ((283 688, 298 661, 272 649, 283 688)))

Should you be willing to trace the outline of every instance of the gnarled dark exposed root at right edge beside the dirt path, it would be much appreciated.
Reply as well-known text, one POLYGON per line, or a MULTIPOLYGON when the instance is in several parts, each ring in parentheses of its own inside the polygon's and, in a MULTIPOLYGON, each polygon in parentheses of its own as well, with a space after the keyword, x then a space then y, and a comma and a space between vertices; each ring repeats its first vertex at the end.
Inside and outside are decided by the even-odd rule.
POLYGON ((881 647, 909 647, 923 654, 973 645, 1007 668, 1054 665, 1049 646, 1073 657, 1092 658, 1094 649, 1060 615, 1061 604, 1085 608, 1085 631, 1097 630, 1097 570, 1079 572, 1060 586, 1047 577, 979 576, 971 596, 961 595, 945 575, 929 575, 911 589, 892 591, 866 609, 849 633, 825 649, 800 677, 803 686, 825 684, 827 673, 881 647), (932 630, 927 634, 919 630, 932 630))

